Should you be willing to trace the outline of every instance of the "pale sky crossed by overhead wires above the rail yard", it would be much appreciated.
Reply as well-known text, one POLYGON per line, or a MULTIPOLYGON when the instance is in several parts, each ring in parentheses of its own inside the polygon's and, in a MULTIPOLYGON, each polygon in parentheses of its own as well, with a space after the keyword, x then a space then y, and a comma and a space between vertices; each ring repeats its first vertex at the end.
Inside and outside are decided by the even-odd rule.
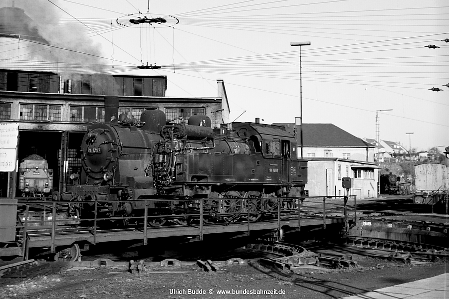
MULTIPOLYGON (((0 0, 1 6, 11 3, 0 0)), ((59 47, 43 51, 67 57, 77 51, 85 72, 101 63, 108 73, 165 75, 167 96, 176 97, 216 97, 216 81, 223 79, 230 121, 293 123, 300 107, 299 47, 290 42, 310 41, 302 47, 305 123, 332 123, 375 139, 376 110, 393 109, 379 112, 380 139, 408 149, 406 133, 413 132, 412 148, 449 146, 449 88, 443 86, 449 83, 449 43, 442 41, 449 39, 448 1, 15 0, 14 5, 59 47), (165 22, 129 21, 145 16, 165 22), (161 68, 137 69, 147 63, 161 68), (429 90, 433 87, 444 91, 429 90)))

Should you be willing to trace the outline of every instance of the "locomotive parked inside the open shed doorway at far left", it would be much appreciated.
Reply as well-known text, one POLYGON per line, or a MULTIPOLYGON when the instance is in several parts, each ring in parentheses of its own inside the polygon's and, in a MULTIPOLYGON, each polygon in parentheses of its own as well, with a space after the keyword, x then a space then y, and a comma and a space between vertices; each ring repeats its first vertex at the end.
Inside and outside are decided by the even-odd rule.
POLYGON ((21 160, 19 172, 22 197, 51 196, 53 169, 48 169, 47 160, 37 154, 29 155, 21 160))

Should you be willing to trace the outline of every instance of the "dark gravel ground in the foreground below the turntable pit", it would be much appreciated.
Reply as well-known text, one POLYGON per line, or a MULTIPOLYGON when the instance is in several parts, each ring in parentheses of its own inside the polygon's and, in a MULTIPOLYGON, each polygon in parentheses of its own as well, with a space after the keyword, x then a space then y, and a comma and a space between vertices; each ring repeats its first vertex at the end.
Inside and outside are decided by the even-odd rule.
POLYGON ((0 279, 0 298, 342 298, 437 276, 449 270, 447 263, 407 265, 368 257, 360 257, 358 264, 357 268, 304 269, 297 273, 267 268, 257 260, 247 265, 223 266, 219 273, 206 273, 197 266, 148 267, 146 271, 132 274, 127 268, 117 267, 62 269, 57 274, 31 280, 0 279), (244 294, 260 290, 272 291, 272 294, 244 294), (217 294, 220 291, 231 294, 217 294), (233 291, 243 294, 235 295, 233 291), (206 294, 189 294, 192 292, 206 294))

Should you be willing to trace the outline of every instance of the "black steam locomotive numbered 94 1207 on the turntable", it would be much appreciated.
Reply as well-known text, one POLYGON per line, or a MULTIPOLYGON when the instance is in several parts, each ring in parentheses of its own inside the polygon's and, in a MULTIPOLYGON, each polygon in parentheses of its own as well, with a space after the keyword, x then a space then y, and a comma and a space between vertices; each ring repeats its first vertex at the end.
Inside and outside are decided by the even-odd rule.
POLYGON ((177 124, 160 110, 146 110, 140 121, 117 114, 118 97, 105 97, 111 121, 90 126, 83 138, 82 172, 61 196, 74 202, 71 215, 132 217, 147 208, 150 225, 186 224, 203 204, 205 220, 254 221, 277 211, 279 197, 292 209, 292 197, 303 195, 307 161, 297 158, 296 140, 283 127, 212 129, 204 115, 177 124))

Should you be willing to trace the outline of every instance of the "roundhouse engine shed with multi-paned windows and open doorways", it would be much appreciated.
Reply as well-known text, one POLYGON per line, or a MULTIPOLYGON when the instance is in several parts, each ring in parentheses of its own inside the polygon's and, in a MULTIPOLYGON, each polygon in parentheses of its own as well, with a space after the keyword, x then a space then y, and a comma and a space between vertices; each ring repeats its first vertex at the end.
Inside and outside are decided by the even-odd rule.
MULTIPOLYGON (((119 96, 119 114, 139 119, 146 109, 163 111, 167 120, 207 115, 213 128, 228 121, 225 84, 217 80, 217 97, 166 97, 165 76, 80 75, 63 80, 54 73, 0 70, 0 122, 17 125, 16 171, 0 170, 0 197, 21 197, 19 165, 38 155, 53 175, 52 191, 61 192, 81 168, 79 146, 87 127, 104 122, 104 95, 119 96), (110 84, 104 83, 108 80, 110 84), (106 88, 98 88, 103 86, 106 88), (114 86, 113 88, 109 88, 114 86), (15 179, 14 179, 15 177, 15 179)), ((1 150, 1 149, 0 149, 1 150)))

